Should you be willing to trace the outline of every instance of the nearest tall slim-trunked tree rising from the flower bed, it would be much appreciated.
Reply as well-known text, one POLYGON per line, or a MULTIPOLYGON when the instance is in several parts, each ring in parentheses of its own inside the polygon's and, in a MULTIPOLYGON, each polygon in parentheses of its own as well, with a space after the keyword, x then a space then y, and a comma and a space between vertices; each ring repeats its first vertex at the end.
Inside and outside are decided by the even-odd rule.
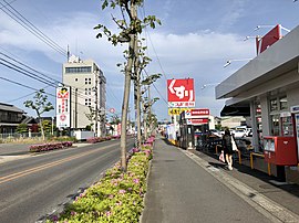
POLYGON ((126 124, 127 124, 127 110, 130 99, 131 79, 135 76, 135 70, 137 68, 137 39, 143 29, 150 25, 155 28, 156 23, 161 23, 155 15, 148 15, 143 20, 137 17, 137 8, 142 7, 144 0, 103 0, 102 10, 110 7, 111 9, 121 9, 122 19, 116 19, 112 15, 112 20, 118 28, 118 33, 112 33, 104 24, 99 24, 94 29, 100 33, 96 38, 105 35, 107 40, 113 44, 128 43, 128 50, 124 53, 126 57, 124 74, 124 96, 122 105, 122 131, 121 131, 121 166, 123 171, 126 171, 126 124), (134 67, 135 66, 135 67, 134 67))

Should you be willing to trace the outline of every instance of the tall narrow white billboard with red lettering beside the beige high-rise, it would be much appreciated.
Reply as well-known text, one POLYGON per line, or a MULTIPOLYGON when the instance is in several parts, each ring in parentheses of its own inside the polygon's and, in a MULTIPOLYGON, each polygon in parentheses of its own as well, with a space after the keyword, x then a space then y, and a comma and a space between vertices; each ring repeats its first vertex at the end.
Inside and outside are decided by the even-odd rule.
POLYGON ((56 88, 56 127, 71 127, 71 87, 56 88))

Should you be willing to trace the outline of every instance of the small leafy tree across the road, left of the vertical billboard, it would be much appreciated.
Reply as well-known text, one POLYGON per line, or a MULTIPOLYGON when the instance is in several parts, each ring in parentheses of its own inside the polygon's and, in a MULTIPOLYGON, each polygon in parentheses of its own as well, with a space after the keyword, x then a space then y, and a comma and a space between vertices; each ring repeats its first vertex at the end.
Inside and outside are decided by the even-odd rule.
POLYGON ((54 109, 51 102, 48 100, 48 95, 45 95, 44 89, 40 89, 33 97, 33 100, 25 100, 24 106, 33 109, 40 120, 42 140, 44 140, 44 129, 42 125, 41 115, 54 109))

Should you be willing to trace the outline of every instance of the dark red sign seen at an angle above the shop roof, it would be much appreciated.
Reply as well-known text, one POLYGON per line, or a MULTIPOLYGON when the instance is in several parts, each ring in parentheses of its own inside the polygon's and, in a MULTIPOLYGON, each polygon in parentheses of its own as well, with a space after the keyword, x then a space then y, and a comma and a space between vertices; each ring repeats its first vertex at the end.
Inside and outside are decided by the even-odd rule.
POLYGON ((280 25, 276 25, 274 29, 271 29, 266 35, 264 35, 261 39, 257 39, 257 54, 260 54, 261 52, 266 51, 270 45, 276 43, 278 40, 281 39, 280 34, 280 25))

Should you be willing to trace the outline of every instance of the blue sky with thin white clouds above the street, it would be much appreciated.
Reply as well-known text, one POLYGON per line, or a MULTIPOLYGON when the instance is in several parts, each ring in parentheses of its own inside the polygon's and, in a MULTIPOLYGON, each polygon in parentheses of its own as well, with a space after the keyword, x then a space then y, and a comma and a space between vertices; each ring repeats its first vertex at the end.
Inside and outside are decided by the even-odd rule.
MULTIPOLYGON (((121 114, 124 75, 116 64, 124 62, 122 52, 126 45, 115 47, 105 39, 95 38, 96 24, 116 30, 112 15, 120 15, 118 10, 103 11, 101 6, 101 0, 0 0, 0 103, 35 116, 23 102, 32 99, 35 89, 45 88, 54 104, 51 94, 55 95, 55 89, 49 82, 16 72, 3 60, 10 56, 61 82, 69 46, 71 54, 99 64, 107 82, 106 107, 121 114), (12 7, 7 7, 10 12, 53 42, 44 43, 9 17, 3 8, 7 2, 12 7)), ((156 15, 162 22, 142 33, 146 54, 152 59, 146 73, 163 74, 151 88, 151 96, 159 98, 153 106, 158 120, 169 119, 166 81, 172 78, 194 78, 196 107, 209 108, 212 115, 219 116, 225 99, 215 99, 215 86, 256 56, 254 38, 244 39, 264 35, 276 24, 292 30, 299 25, 298 12, 299 1, 293 0, 145 0, 138 17, 156 15), (255 30, 257 25, 265 26, 255 30), (231 64, 224 67, 229 60, 231 64)), ((282 30, 283 35, 287 33, 282 30)), ((132 93, 130 107, 134 117, 132 93)), ((54 110, 44 116, 54 116, 54 110)))

